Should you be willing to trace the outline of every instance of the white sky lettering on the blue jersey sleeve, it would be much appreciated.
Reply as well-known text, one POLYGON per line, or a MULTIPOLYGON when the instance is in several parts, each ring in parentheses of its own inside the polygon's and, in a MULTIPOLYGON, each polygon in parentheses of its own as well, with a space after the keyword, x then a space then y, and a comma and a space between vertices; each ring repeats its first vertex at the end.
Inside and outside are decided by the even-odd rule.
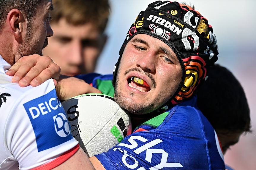
POLYGON ((128 137, 128 140, 119 143, 117 147, 113 148, 114 151, 118 150, 120 153, 124 154, 122 156, 122 162, 127 168, 145 170, 146 168, 144 167, 147 167, 147 169, 158 170, 165 167, 183 167, 178 162, 168 162, 168 157, 170 157, 170 155, 165 151, 166 148, 163 147, 164 145, 159 145, 163 142, 161 139, 156 138, 154 140, 148 140, 142 136, 135 135, 130 135, 128 137), (122 148, 118 148, 118 146, 121 146, 122 148), (125 148, 128 148, 129 152, 131 152, 130 150, 133 150, 138 157, 127 153, 125 148), (143 161, 143 158, 145 158, 145 161, 143 161), (149 166, 151 167, 149 168, 149 166))

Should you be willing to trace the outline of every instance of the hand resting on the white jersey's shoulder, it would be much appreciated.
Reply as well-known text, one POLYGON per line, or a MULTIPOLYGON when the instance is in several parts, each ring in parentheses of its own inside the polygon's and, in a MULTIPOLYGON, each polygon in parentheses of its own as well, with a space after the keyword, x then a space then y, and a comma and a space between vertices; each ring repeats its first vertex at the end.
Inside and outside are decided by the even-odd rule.
POLYGON ((6 74, 13 76, 12 82, 19 82, 21 87, 35 87, 50 78, 53 78, 54 84, 57 85, 60 67, 48 56, 33 54, 20 58, 6 74))

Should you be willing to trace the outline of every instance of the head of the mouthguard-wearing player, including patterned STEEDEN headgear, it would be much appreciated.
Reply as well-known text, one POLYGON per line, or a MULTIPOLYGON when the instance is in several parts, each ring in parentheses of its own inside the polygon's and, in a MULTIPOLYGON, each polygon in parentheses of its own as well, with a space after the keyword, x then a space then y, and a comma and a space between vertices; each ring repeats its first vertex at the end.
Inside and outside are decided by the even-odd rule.
POLYGON ((131 113, 146 114, 190 98, 218 52, 212 27, 199 12, 178 2, 156 1, 140 12, 119 54, 113 78, 116 102, 131 113))

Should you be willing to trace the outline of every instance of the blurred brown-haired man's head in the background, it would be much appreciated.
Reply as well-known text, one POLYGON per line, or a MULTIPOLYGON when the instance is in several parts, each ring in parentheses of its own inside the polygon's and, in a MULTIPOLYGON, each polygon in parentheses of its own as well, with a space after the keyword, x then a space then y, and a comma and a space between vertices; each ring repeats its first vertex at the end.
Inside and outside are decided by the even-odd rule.
POLYGON ((61 74, 94 72, 106 35, 108 0, 53 0, 50 21, 54 36, 43 54, 61 67, 61 74))

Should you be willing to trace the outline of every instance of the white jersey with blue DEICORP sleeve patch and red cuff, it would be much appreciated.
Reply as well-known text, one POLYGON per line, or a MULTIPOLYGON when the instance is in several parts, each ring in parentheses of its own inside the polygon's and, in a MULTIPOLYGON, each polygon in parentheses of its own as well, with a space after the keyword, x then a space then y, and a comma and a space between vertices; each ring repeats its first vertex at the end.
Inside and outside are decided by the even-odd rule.
POLYGON ((52 169, 78 150, 53 80, 20 87, 0 56, 0 170, 52 169))

